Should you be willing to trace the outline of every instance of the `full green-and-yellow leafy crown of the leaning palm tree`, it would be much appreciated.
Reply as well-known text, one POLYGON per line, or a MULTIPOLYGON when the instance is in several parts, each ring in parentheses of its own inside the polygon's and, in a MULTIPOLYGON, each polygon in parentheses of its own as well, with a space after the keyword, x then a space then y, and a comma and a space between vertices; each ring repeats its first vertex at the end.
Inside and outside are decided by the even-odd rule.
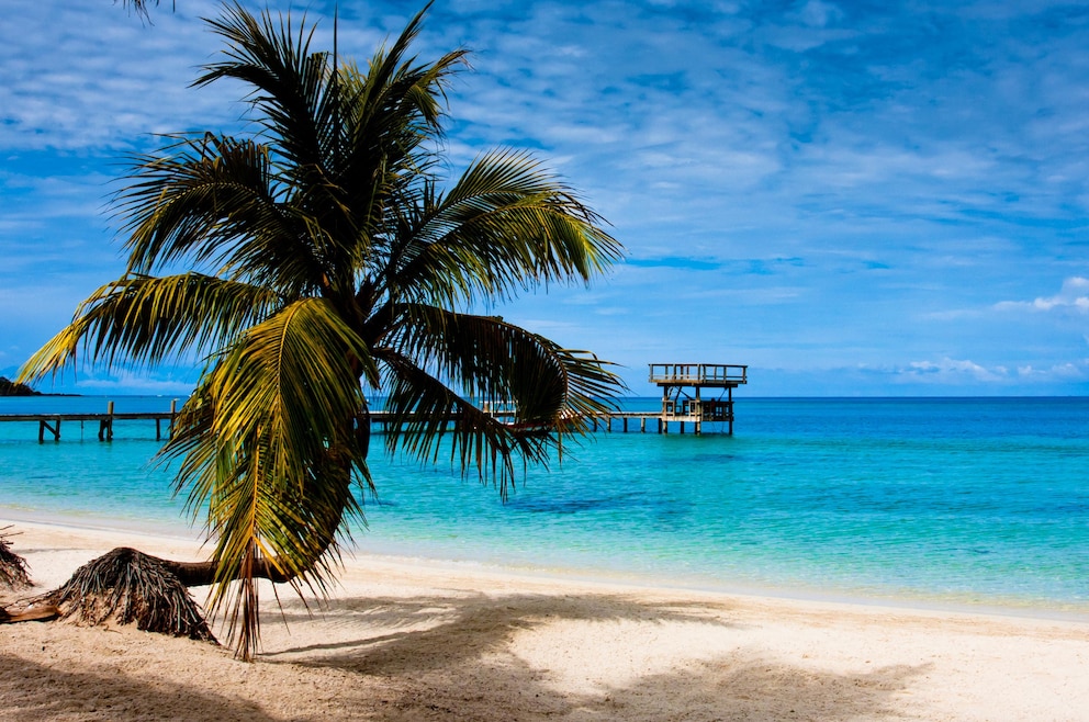
POLYGON ((424 12, 363 68, 312 52, 305 18, 234 4, 209 21, 227 47, 195 84, 248 84, 258 132, 176 136, 135 160, 116 199, 126 272, 20 374, 61 372, 80 349, 106 366, 205 358, 161 455, 214 549, 160 562, 213 585, 209 609, 243 658, 258 644, 258 578, 321 593, 337 569, 356 489, 371 487, 364 391, 388 396, 390 452, 449 454, 505 496, 621 387, 593 354, 470 313, 587 282, 621 248, 524 153, 439 174, 445 91, 465 53, 411 57, 424 12), (494 418, 492 403, 516 416, 494 418))

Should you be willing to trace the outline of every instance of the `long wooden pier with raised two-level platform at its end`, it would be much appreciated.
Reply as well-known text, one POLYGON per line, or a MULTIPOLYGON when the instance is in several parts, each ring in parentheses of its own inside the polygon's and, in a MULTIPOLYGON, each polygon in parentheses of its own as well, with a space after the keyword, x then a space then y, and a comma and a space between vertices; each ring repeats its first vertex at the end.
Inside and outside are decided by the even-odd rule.
MULTIPOLYGON (((681 433, 685 425, 691 424, 695 433, 701 433, 705 422, 722 424, 728 433, 733 433, 733 390, 748 383, 748 366, 733 364, 707 363, 652 363, 650 364, 650 382, 662 390, 662 408, 660 411, 610 411, 587 419, 593 431, 638 430, 647 432, 648 421, 655 421, 654 431, 669 433, 673 424, 681 433), (704 396, 704 390, 718 390, 718 398, 704 396)), ((509 410, 493 410, 496 418, 513 418, 509 410)), ((169 411, 141 411, 133 414, 114 413, 114 403, 106 404, 104 414, 0 414, 0 422, 37 424, 38 443, 45 443, 47 438, 60 441, 61 425, 88 421, 98 426, 99 441, 113 440, 115 421, 155 421, 155 439, 160 441, 170 436, 170 429, 178 416, 177 401, 170 402, 169 411), (164 430, 164 427, 165 430, 164 430)), ((389 411, 375 410, 369 415, 372 428, 389 431, 393 415, 389 411)), ((452 420, 452 419, 450 419, 452 420)))

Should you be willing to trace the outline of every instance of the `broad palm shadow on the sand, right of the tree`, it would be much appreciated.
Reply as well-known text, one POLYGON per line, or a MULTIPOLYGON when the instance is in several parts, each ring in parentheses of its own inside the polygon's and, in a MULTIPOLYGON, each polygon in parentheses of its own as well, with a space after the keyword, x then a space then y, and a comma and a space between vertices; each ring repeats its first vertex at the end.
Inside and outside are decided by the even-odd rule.
MULTIPOLYGON (((302 609, 285 614, 289 622, 306 617, 302 609)), ((650 603, 619 595, 356 598, 337 602, 323 620, 307 623, 315 621, 339 628, 336 636, 341 641, 270 651, 262 659, 380 678, 380 707, 356 710, 360 719, 389 722, 917 719, 903 711, 898 698, 924 672, 896 666, 834 674, 788 664, 729 643, 731 631, 743 628, 729 620, 728 609, 650 603), (704 658, 636 668, 624 684, 613 686, 600 681, 607 676, 572 685, 571 670, 560 668, 562 653, 550 666, 520 657, 512 647, 517 636, 546 634, 550 625, 570 632, 580 624, 611 624, 619 639, 632 630, 645 632, 648 625, 651 632, 655 625, 663 632, 678 629, 665 622, 726 640, 721 651, 704 658)), ((576 636, 568 639, 580 643, 576 636)))

